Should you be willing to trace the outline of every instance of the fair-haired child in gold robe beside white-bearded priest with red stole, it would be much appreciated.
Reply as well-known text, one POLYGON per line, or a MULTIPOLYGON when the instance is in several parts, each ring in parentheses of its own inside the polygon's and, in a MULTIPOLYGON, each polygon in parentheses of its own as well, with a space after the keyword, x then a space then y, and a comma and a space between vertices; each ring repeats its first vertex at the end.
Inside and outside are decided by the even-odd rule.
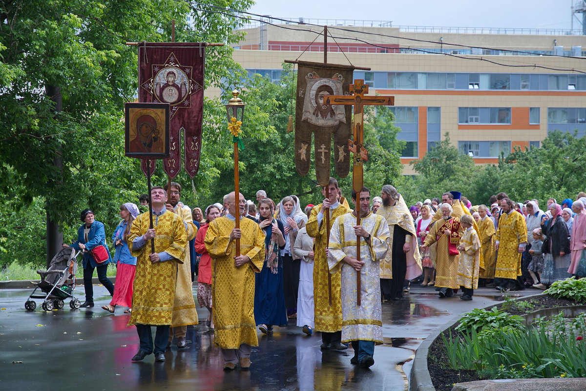
POLYGON ((478 273, 480 271, 481 243, 478 234, 473 228, 474 219, 470 215, 460 217, 464 233, 460 239, 458 251, 460 261, 458 264, 458 284, 464 291, 460 296, 462 300, 472 300, 474 290, 478 288, 478 273))

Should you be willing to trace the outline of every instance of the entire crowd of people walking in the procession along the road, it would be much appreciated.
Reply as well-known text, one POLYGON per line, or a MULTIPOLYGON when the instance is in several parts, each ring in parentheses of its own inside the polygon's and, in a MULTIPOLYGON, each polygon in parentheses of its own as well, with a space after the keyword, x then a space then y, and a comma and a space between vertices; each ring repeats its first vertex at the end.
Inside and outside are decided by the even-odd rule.
POLYGON ((250 368, 257 328, 270 334, 289 322, 308 336, 319 332, 323 350, 351 344, 350 362, 369 368, 374 346, 383 343, 381 304, 401 300, 411 283, 435 287, 440 298, 461 290, 459 298, 469 301, 479 286, 545 289, 586 276, 582 192, 575 201, 547 200, 545 212, 536 199, 513 202, 505 193, 491 196, 489 206, 472 206, 456 191, 408 206, 391 185, 372 198, 367 188, 352 191, 352 210, 335 178, 323 187, 323 200, 305 208, 295 195, 275 202, 260 190, 256 202, 231 192, 222 203, 192 210, 180 193, 176 182, 152 188, 152 215, 139 213, 149 195, 139 198, 140 207, 121 205, 114 257, 89 209, 71 244, 84 250, 81 307, 94 305, 94 269, 112 295, 102 308, 127 307, 140 342, 132 361, 151 353, 165 361, 173 336, 186 347, 186 327, 198 321, 196 276, 196 300, 209 311, 206 327, 225 370, 250 368), (108 263, 117 265, 115 284, 106 277, 108 263))

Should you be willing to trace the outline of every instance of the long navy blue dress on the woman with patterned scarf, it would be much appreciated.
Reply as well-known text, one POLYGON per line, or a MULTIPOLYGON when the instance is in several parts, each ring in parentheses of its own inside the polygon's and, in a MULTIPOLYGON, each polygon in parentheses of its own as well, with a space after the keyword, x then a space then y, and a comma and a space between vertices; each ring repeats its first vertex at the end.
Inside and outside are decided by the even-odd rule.
MULTIPOLYGON (((278 227, 283 236, 285 229, 279 220, 278 227)), ((271 243, 272 225, 265 227, 264 248, 267 251, 271 243)), ((279 247, 279 250, 285 246, 279 247)), ((254 321, 257 325, 265 324, 267 326, 287 325, 287 308, 285 308, 285 294, 283 293, 283 264, 281 261, 280 251, 277 251, 277 273, 273 273, 267 265, 265 259, 263 269, 260 273, 255 273, 254 287, 254 321)))

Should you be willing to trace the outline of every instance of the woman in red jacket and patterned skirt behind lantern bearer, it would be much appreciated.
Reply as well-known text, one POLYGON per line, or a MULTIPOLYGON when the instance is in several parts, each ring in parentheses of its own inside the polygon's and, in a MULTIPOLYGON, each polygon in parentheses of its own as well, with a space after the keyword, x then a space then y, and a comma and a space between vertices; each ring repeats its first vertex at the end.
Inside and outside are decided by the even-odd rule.
MULTIPOLYGON (((220 205, 221 206, 221 205, 220 205)), ((194 239, 193 248, 197 253, 202 254, 202 257, 197 266, 197 302, 199 307, 206 307, 210 311, 207 315, 206 325, 213 330, 213 313, 212 313, 212 257, 207 253, 206 245, 203 240, 206 238, 207 229, 217 217, 220 217, 222 210, 217 205, 210 205, 206 208, 206 222, 202 224, 194 239)))

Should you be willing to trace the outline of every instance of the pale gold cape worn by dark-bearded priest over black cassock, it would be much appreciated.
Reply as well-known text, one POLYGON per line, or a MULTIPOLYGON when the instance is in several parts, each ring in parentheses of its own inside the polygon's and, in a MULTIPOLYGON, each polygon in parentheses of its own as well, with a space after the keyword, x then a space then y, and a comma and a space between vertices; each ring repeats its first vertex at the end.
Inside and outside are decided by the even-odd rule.
MULTIPOLYGON (((393 278, 393 232, 396 225, 411 234, 411 250, 407 253, 407 273, 405 278, 406 280, 411 280, 420 276, 423 269, 421 268, 419 246, 417 245, 417 233, 415 232, 413 216, 411 216, 403 196, 399 195, 399 199, 394 206, 381 205, 376 214, 383 216, 389 225, 389 237, 387 238, 389 251, 387 256, 380 261, 380 278, 393 278)), ((406 241, 408 238, 409 236, 406 237, 406 241)))

